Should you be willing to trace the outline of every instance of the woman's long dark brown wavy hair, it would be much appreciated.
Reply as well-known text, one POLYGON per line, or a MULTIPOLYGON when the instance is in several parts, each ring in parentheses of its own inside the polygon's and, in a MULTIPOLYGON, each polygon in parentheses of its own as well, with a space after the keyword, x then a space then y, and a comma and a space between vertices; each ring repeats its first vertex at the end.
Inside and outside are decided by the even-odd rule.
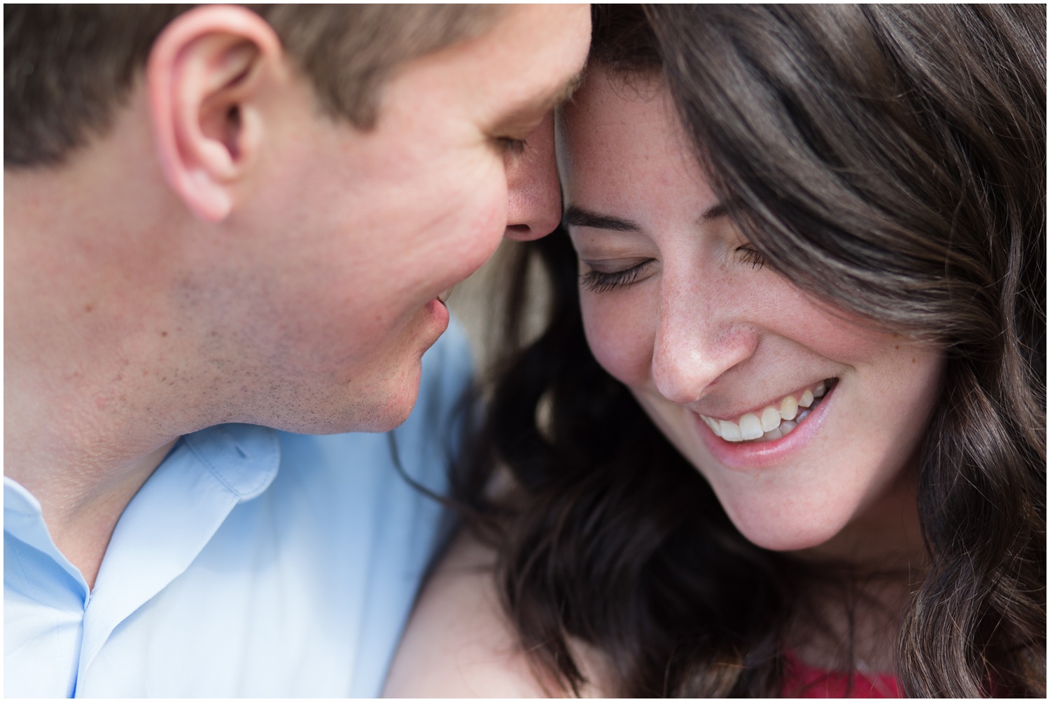
MULTIPOLYGON (((751 244, 795 284, 947 354, 921 447, 926 574, 903 690, 1045 695, 1046 17, 1043 6, 596 7, 591 62, 663 72, 751 244)), ((461 474, 540 672, 570 639, 624 696, 781 692, 805 569, 733 527, 591 356, 564 232, 523 249, 508 353, 461 474), (550 314, 525 345, 529 262, 550 314), (494 491, 502 471, 510 487, 494 491)))

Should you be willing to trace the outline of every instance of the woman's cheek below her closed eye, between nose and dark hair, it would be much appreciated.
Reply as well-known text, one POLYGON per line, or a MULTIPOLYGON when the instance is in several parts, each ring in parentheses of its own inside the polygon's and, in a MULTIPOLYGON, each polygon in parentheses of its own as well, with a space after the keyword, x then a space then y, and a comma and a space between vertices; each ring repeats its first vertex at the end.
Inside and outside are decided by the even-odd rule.
MULTIPOLYGON (((628 387, 648 385, 658 310, 642 291, 581 291, 584 334, 606 371, 628 387), (651 309, 650 309, 651 307, 651 309)), ((655 301, 654 301, 655 302, 655 301)))

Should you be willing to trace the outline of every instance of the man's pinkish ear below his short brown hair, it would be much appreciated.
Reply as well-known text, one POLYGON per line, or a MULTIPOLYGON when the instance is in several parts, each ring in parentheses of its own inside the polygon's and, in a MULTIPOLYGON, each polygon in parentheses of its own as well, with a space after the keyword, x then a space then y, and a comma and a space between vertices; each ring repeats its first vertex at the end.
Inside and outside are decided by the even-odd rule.
POLYGON ((161 165, 202 219, 229 215, 261 146, 261 93, 285 77, 277 35, 245 7, 196 7, 153 43, 146 90, 161 165))

